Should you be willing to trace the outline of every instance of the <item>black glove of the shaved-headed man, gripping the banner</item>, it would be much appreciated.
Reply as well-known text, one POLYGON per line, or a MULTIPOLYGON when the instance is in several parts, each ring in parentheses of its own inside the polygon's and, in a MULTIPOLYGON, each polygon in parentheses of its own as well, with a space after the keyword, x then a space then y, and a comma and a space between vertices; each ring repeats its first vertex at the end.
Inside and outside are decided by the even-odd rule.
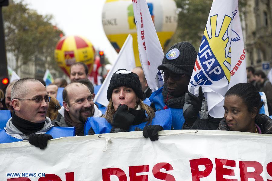
POLYGON ((30 144, 44 149, 47 146, 47 141, 53 139, 50 134, 30 134, 28 141, 30 144))

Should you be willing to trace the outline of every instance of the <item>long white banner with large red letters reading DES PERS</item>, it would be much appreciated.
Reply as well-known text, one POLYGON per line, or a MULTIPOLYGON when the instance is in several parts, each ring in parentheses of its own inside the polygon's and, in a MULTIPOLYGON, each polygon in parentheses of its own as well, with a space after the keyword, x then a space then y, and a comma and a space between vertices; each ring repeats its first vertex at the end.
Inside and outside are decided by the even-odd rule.
POLYGON ((0 144, 0 179, 263 181, 272 180, 271 153, 271 134, 217 130, 161 131, 154 142, 141 131, 66 137, 44 150, 23 141, 0 144), (22 173, 29 179, 15 179, 22 173))

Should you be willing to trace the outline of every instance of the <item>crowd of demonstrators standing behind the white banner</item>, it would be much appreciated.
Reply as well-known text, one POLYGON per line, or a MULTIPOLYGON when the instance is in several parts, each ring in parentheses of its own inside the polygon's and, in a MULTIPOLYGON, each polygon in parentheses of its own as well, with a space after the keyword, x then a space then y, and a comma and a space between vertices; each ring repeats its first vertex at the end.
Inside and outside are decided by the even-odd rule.
POLYGON ((0 143, 29 140, 44 149, 50 139, 67 134, 73 136, 64 128, 75 129, 76 136, 143 131, 144 137, 152 141, 158 140, 158 131, 170 129, 272 133, 270 117, 259 114, 265 104, 259 91, 266 94, 271 111, 272 85, 264 72, 255 71, 253 67, 247 67, 249 83, 236 84, 225 94, 222 119, 209 115, 200 117, 205 99, 202 87, 199 87, 198 97, 188 91, 196 57, 195 48, 189 42, 174 44, 158 67, 164 77, 164 86, 153 93, 141 67, 131 71, 119 69, 110 80, 105 115, 93 102, 94 86, 88 79, 88 67, 82 62, 71 65, 71 84, 68 85, 62 78, 47 87, 44 81, 34 78, 13 81, 5 96, 0 90, 1 102, 5 103, 0 103, 0 109, 10 110, 12 114, 5 129, 0 129, 0 143), (62 107, 56 99, 58 87, 64 87, 62 107), (143 102, 148 97, 151 107, 143 102), (159 114, 164 116, 156 118, 159 114), (169 122, 165 121, 168 119, 169 122), (84 130, 86 121, 90 122, 89 130, 84 130))

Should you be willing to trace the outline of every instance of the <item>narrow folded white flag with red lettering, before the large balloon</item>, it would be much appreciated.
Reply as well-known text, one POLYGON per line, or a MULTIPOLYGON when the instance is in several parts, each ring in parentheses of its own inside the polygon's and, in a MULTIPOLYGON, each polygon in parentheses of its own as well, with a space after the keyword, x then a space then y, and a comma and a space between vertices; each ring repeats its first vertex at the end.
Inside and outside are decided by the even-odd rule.
POLYGON ((137 28, 138 49, 148 87, 158 90, 164 81, 157 67, 164 58, 164 52, 152 21, 146 0, 132 0, 137 28))

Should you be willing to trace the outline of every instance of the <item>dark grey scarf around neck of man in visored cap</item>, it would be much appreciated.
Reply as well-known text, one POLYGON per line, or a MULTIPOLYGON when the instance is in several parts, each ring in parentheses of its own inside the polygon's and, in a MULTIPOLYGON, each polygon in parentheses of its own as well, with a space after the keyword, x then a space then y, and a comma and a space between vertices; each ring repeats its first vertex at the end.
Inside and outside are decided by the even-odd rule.
POLYGON ((185 94, 182 95, 181 97, 175 97, 175 96, 173 96, 172 94, 169 93, 166 84, 164 84, 162 95, 164 97, 164 103, 166 102, 166 98, 167 98, 167 95, 168 95, 168 99, 167 99, 167 102, 166 102, 168 107, 183 109, 184 102, 185 102, 185 94))

